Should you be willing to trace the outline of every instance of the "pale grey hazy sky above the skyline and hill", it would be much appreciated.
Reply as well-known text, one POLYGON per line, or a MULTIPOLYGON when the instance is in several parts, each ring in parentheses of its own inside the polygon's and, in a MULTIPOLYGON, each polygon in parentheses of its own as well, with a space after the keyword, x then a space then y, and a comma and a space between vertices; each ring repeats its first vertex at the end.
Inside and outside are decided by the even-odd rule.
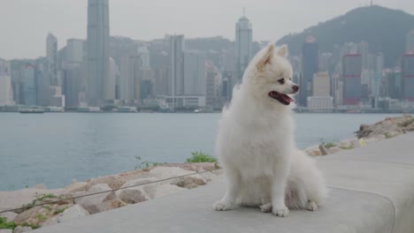
MULTIPOLYGON (((223 35, 234 40, 234 24, 246 9, 255 41, 277 41, 284 34, 332 19, 369 0, 110 0, 111 35, 137 40, 185 34, 223 35)), ((413 0, 377 0, 414 14, 413 0)), ((46 35, 85 39, 87 0, 0 0, 0 57, 44 56, 46 35)))

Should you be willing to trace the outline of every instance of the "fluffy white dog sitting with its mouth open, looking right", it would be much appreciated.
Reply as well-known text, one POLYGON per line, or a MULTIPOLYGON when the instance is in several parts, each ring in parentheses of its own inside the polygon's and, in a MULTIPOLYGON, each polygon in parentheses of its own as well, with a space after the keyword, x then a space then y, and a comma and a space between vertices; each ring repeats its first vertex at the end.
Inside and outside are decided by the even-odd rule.
POLYGON ((294 100, 288 47, 269 45, 251 60, 242 84, 219 120, 216 153, 226 171, 226 194, 213 208, 260 207, 285 217, 311 211, 325 199, 324 178, 311 157, 295 147, 294 100))

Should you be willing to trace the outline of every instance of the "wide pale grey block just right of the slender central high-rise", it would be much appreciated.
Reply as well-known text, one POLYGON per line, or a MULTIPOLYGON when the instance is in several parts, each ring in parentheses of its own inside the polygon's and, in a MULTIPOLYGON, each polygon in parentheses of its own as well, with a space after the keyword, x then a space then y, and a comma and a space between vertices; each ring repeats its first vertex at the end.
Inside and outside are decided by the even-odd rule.
POLYGON ((205 54, 197 50, 184 52, 184 94, 205 94, 205 54))

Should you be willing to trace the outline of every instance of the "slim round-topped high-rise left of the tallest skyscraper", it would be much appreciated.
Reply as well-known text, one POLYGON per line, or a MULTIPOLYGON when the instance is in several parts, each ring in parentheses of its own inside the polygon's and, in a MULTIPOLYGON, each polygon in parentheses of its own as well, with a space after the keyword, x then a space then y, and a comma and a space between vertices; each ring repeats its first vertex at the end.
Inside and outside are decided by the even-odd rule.
POLYGON ((50 86, 58 86, 58 38, 48 34, 46 38, 46 73, 50 86))

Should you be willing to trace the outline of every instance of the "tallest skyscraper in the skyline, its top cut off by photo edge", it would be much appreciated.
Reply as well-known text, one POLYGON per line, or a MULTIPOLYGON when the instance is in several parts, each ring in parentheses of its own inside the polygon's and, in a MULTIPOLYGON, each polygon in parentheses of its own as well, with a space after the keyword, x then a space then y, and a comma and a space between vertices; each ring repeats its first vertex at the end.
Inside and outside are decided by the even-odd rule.
MULTIPOLYGON (((109 0, 88 0, 88 105, 101 106, 114 96, 104 96, 109 76, 109 0)), ((115 87, 114 87, 115 88, 115 87)))

